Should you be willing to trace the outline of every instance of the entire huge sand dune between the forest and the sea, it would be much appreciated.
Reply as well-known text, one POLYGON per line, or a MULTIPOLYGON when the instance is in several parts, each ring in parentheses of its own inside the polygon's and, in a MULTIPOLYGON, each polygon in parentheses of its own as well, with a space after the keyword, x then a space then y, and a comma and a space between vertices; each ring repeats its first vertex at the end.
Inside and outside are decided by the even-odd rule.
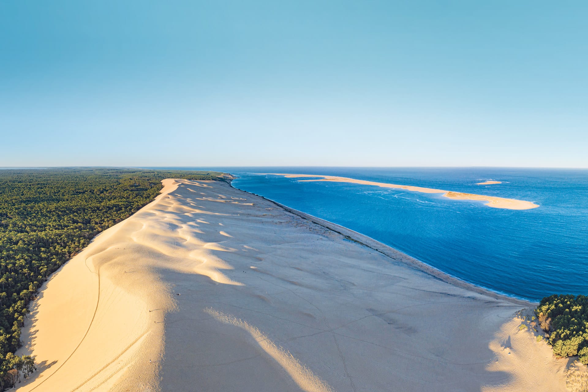
POLYGON ((227 183, 164 185, 44 284, 19 391, 564 390, 526 301, 227 183))

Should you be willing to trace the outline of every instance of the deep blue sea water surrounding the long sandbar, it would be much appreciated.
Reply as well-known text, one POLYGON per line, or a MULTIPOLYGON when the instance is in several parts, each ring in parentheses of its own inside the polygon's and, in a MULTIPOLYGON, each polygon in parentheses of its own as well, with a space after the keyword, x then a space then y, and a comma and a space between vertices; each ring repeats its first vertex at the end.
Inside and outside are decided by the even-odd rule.
POLYGON ((214 169, 238 176, 232 185, 239 189, 348 227, 495 292, 534 301, 554 293, 588 294, 586 169, 214 169), (497 209, 440 194, 255 173, 343 176, 529 200, 540 207, 497 209), (475 185, 490 179, 503 183, 475 185))

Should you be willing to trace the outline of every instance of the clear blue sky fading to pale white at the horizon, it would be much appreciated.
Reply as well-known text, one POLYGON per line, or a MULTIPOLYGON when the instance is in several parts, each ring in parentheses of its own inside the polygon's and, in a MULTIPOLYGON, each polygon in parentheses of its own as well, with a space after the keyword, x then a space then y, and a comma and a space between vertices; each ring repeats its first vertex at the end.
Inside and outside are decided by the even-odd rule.
POLYGON ((588 167, 586 1, 0 0, 0 166, 588 167))

